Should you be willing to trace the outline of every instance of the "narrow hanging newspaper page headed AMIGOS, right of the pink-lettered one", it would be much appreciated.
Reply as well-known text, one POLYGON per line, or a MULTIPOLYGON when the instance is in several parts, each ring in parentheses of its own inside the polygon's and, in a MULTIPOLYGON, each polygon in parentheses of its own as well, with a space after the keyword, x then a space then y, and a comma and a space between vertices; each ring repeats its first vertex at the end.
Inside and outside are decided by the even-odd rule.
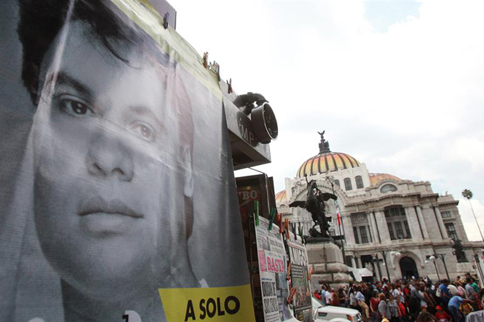
POLYGON ((308 254, 304 244, 297 240, 288 240, 290 276, 296 293, 293 297, 294 316, 299 321, 310 322, 313 319, 311 290, 308 278, 308 254))

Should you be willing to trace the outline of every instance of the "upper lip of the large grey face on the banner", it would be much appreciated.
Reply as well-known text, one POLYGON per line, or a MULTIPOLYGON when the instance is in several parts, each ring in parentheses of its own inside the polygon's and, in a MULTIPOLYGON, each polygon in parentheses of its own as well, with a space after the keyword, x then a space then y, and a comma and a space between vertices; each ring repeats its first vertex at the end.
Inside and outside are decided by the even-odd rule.
POLYGON ((83 200, 80 205, 80 211, 77 214, 79 214, 79 216, 89 216, 95 214, 121 215, 136 219, 145 217, 137 211, 131 209, 131 207, 119 199, 113 199, 108 202, 101 197, 83 200))

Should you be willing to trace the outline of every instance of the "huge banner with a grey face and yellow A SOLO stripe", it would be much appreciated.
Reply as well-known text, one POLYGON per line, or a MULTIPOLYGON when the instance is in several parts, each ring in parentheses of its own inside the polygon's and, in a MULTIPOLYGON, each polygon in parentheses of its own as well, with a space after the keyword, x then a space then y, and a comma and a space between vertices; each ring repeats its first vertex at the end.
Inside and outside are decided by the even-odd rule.
POLYGON ((0 321, 254 321, 216 75, 142 0, 0 1, 0 321))

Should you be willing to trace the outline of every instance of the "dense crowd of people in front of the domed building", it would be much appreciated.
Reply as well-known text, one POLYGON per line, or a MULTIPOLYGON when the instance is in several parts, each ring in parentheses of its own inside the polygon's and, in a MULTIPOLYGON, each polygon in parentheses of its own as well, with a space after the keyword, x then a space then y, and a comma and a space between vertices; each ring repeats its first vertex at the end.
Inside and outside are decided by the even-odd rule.
MULTIPOLYGON (((425 277, 322 285, 315 297, 326 305, 359 310, 363 321, 372 322, 464 322, 468 314, 484 308, 484 288, 469 273, 452 282, 434 283, 425 277)), ((484 310, 481 313, 476 321, 484 321, 484 310)))

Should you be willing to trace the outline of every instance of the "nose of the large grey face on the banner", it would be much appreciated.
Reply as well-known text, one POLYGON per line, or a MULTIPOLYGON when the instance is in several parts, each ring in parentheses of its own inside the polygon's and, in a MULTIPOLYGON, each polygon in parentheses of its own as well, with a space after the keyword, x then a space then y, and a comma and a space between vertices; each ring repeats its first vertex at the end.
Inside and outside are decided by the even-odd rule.
POLYGON ((134 175, 132 151, 115 131, 98 129, 89 145, 86 167, 99 178, 131 181, 134 175))

